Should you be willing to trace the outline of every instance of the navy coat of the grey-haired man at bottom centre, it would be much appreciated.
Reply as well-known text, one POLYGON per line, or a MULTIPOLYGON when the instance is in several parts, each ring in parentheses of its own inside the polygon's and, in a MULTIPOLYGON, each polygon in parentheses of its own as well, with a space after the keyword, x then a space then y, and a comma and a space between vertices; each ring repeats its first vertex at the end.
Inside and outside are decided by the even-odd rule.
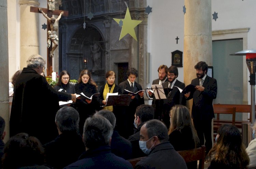
POLYGON ((79 160, 65 167, 77 169, 132 169, 130 162, 111 153, 109 146, 89 149, 84 152, 79 160))

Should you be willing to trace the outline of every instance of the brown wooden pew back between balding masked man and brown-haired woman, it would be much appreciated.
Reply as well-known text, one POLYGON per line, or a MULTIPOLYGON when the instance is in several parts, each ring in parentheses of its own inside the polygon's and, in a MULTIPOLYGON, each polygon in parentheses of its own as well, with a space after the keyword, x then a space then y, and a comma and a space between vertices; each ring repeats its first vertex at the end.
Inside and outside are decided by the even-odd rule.
POLYGON ((204 168, 204 158, 205 158, 205 145, 200 148, 177 151, 185 160, 186 163, 194 162, 199 160, 199 169, 204 168))

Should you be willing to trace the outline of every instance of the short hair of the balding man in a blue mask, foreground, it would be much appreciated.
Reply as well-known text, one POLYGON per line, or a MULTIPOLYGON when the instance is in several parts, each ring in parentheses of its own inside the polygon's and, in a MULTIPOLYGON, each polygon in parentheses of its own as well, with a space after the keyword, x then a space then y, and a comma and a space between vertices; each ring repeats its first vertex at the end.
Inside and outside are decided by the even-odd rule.
POLYGON ((144 125, 147 128, 148 138, 157 136, 160 142, 169 140, 167 127, 160 120, 153 119, 147 121, 144 125))

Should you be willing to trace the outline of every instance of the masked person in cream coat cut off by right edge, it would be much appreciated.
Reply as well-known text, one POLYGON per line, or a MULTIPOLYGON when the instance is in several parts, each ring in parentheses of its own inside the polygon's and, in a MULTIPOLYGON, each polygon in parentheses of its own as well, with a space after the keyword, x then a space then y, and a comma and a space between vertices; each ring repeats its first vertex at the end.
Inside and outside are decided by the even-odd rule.
POLYGON ((249 143, 248 147, 246 148, 246 152, 250 158, 250 163, 248 169, 256 167, 256 139, 255 139, 255 130, 256 130, 256 123, 253 125, 253 140, 249 143))

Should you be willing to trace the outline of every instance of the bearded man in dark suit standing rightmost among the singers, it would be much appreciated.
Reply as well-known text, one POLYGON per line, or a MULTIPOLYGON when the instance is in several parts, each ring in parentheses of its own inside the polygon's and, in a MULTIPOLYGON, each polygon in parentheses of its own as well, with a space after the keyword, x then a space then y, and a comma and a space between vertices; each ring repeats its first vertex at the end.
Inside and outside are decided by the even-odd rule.
POLYGON ((207 154, 212 148, 212 118, 214 118, 212 102, 217 95, 217 81, 207 76, 208 65, 205 62, 198 62, 195 69, 197 78, 193 79, 191 84, 195 86, 196 91, 191 95, 190 92, 186 93, 185 97, 187 100, 193 98, 193 123, 200 145, 205 145, 207 154))

